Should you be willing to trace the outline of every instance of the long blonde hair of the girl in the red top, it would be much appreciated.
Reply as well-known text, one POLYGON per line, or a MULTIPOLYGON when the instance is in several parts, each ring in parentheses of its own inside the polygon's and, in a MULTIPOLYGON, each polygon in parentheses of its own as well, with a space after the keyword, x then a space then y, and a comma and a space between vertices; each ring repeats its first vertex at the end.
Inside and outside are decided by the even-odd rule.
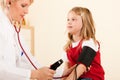
MULTIPOLYGON (((96 42, 94 21, 89 9, 84 7, 74 7, 69 11, 69 13, 70 12, 75 12, 77 15, 80 15, 82 18, 83 26, 80 31, 80 37, 82 38, 82 40, 88 40, 90 38, 93 38, 94 41, 96 42)), ((69 49, 69 46, 71 46, 71 43, 73 41, 72 36, 73 36, 72 34, 68 33, 69 40, 67 44, 64 46, 65 51, 69 49)))

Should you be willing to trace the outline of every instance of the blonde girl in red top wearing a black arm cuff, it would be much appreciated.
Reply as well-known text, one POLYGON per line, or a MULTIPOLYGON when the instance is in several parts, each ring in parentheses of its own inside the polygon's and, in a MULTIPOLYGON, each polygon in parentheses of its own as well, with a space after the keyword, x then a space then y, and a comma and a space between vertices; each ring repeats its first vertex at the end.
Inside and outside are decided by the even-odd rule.
POLYGON ((91 12, 84 7, 71 9, 67 17, 67 30, 69 40, 64 50, 68 60, 63 74, 72 66, 75 67, 63 80, 104 80, 100 45, 95 38, 91 12))

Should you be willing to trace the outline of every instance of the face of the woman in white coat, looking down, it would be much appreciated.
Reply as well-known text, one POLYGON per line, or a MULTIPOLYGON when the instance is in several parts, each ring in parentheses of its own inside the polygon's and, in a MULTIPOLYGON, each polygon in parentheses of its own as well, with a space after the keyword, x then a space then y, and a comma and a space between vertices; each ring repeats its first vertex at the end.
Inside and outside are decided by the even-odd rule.
POLYGON ((30 0, 17 0, 11 2, 9 7, 9 16, 15 21, 21 21, 25 14, 28 13, 28 7, 30 5, 30 0))

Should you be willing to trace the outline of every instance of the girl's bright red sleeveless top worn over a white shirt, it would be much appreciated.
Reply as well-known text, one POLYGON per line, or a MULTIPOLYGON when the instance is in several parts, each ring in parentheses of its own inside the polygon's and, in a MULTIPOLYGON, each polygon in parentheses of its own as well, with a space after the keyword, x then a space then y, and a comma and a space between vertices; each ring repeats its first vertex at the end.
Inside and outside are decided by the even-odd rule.
MULTIPOLYGON (((77 63, 78 56, 80 55, 81 51, 82 41, 78 44, 78 46, 74 48, 70 47, 70 49, 67 51, 67 57, 70 62, 70 66, 73 66, 77 63)), ((91 63, 90 70, 81 75, 80 78, 91 78, 92 80, 104 80, 104 70, 101 66, 100 50, 96 52, 96 56, 91 63)))

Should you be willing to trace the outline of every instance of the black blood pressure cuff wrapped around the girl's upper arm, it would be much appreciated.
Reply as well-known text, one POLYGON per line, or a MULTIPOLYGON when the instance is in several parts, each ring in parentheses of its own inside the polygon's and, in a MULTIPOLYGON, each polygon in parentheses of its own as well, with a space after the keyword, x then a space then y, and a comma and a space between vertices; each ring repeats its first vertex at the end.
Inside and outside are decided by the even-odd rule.
POLYGON ((83 63, 86 67, 89 67, 96 55, 96 51, 88 46, 82 48, 82 52, 78 57, 78 63, 83 63))

